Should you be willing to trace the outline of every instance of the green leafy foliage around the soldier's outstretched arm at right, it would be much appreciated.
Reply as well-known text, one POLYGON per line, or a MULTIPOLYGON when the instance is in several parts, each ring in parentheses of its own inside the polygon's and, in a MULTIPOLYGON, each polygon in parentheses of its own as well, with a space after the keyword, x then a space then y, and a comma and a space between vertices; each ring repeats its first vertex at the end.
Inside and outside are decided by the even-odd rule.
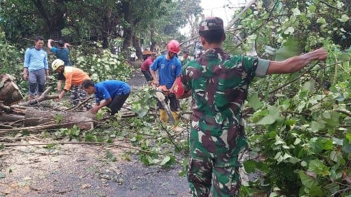
POLYGON ((350 86, 345 81, 351 53, 331 36, 348 38, 343 28, 350 22, 349 10, 342 1, 258 1, 237 23, 234 43, 226 42, 232 53, 252 53, 254 46, 271 60, 321 46, 329 51, 326 62, 311 64, 303 74, 252 83, 247 107, 254 114, 247 135, 250 154, 258 159, 243 164, 247 172, 259 170, 263 176, 244 187, 243 196, 260 190, 270 196, 350 195, 350 86), (331 82, 330 92, 325 81, 331 82))

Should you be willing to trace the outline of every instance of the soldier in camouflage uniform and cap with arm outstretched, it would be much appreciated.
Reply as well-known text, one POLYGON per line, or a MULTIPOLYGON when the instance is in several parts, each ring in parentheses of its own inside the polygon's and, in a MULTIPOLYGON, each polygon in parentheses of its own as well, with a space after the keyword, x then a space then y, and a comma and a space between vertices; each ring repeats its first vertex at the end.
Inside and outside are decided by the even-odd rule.
POLYGON ((221 49, 223 21, 205 18, 199 24, 204 55, 182 68, 184 93, 193 97, 191 159, 188 179, 193 196, 239 196, 238 155, 247 147, 241 110, 252 78, 274 73, 294 73, 313 60, 326 60, 317 49, 282 62, 258 57, 228 55, 221 49), (213 179, 212 179, 213 177, 213 179))

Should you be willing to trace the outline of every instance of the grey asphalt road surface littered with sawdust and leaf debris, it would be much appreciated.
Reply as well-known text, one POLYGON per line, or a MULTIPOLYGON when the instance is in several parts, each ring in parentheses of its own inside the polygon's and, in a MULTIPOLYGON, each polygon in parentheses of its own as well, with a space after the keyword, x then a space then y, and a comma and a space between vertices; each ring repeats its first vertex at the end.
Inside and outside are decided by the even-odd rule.
MULTIPOLYGON (((132 62, 138 67, 139 62, 132 62)), ((127 81, 132 91, 146 86, 140 70, 127 81)), ((45 143, 45 137, 30 135, 15 144, 45 143)), ((0 150, 0 197, 54 196, 190 196, 179 164, 170 169, 145 166, 128 149, 62 144, 14 146, 0 150), (116 161, 106 158, 106 150, 116 161)))

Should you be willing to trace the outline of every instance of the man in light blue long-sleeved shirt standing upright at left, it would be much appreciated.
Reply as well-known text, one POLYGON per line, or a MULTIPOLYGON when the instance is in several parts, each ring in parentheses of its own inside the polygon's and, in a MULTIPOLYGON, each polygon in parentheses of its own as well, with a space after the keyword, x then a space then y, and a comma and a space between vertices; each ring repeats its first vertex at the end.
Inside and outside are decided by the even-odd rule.
POLYGON ((29 83, 28 101, 34 99, 36 94, 40 96, 44 92, 46 79, 49 79, 47 52, 43 51, 43 45, 44 38, 36 36, 34 47, 25 50, 23 79, 29 83))

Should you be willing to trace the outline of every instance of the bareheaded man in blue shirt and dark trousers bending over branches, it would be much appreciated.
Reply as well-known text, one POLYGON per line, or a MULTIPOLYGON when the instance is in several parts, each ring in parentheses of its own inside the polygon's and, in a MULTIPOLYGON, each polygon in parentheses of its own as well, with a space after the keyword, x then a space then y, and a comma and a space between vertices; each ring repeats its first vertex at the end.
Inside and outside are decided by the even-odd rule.
POLYGON ((88 79, 82 83, 82 89, 88 94, 95 93, 95 105, 90 112, 96 114, 102 107, 108 107, 111 110, 111 116, 114 116, 130 94, 130 86, 119 80, 106 80, 99 83, 88 79), (104 102, 100 103, 100 101, 104 102))

